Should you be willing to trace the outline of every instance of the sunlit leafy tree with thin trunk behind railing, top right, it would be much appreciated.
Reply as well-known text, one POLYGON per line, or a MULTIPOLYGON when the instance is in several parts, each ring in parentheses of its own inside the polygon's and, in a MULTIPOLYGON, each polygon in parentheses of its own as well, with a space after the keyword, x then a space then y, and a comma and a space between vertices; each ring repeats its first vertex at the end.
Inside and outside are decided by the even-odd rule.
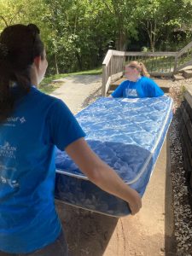
POLYGON ((167 38, 175 28, 181 27, 191 20, 191 2, 186 0, 142 0, 137 1, 135 20, 147 32, 150 48, 155 46, 160 38, 167 38))

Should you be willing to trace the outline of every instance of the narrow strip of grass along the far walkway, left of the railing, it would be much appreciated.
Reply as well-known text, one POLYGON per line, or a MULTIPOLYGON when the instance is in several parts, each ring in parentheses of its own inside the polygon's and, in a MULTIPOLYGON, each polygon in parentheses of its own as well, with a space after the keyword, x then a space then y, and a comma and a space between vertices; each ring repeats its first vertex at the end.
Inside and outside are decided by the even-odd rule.
POLYGON ((102 67, 98 67, 96 69, 76 72, 76 73, 60 73, 55 74, 49 77, 45 77, 44 80, 39 84, 39 90, 43 91, 44 93, 51 93, 52 91, 56 90, 61 86, 61 82, 53 82, 56 79, 64 79, 70 75, 97 75, 102 74, 102 67))

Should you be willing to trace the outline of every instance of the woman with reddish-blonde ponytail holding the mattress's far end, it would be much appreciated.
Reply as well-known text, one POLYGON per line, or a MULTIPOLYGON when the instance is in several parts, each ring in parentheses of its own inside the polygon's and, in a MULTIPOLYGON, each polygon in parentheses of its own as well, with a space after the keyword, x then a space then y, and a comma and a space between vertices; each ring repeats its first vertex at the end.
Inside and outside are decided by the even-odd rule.
POLYGON ((164 92, 154 82, 149 79, 149 74, 142 62, 131 61, 125 66, 124 82, 119 84, 118 88, 113 91, 112 96, 125 98, 143 98, 143 97, 159 97, 164 92))

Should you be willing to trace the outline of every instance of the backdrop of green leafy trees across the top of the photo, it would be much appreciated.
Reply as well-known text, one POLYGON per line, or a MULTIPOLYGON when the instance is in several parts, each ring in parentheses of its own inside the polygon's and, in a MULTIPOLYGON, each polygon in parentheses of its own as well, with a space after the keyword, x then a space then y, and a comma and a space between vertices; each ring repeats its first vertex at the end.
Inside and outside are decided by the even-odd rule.
POLYGON ((191 0, 0 0, 0 31, 39 26, 49 75, 99 67, 108 49, 135 42, 138 49, 181 49, 191 41, 191 21, 191 0))

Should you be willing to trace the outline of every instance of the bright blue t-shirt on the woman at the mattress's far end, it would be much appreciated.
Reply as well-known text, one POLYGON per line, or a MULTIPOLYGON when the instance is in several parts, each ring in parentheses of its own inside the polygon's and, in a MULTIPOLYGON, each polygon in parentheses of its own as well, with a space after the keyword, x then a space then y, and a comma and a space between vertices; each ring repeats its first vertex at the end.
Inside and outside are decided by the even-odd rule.
POLYGON ((113 91, 114 98, 144 98, 163 96, 164 92, 152 79, 141 77, 137 82, 125 80, 119 84, 118 88, 113 91))

